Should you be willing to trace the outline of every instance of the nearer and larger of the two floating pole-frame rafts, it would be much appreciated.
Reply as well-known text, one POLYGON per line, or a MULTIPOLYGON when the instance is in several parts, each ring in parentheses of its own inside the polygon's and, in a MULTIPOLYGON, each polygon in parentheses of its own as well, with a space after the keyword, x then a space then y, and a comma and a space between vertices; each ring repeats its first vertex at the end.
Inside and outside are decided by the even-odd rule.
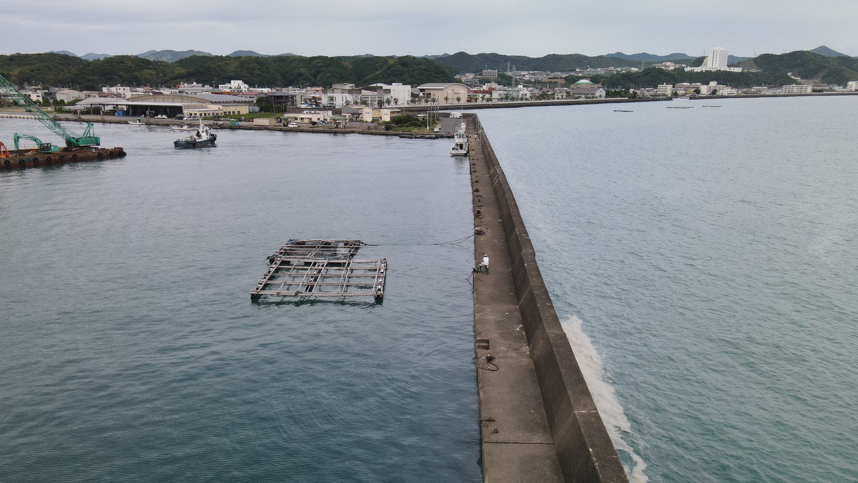
POLYGON ((251 299, 292 297, 384 297, 387 260, 276 258, 251 299))

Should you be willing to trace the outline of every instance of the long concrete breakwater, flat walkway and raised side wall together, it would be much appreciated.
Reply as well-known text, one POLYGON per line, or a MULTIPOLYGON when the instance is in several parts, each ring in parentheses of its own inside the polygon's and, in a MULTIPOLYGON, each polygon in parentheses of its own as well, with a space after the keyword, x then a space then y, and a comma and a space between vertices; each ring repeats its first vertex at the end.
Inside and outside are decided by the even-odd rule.
POLYGON ((483 480, 628 481, 536 265, 479 118, 465 116, 474 196, 474 331, 483 480))

